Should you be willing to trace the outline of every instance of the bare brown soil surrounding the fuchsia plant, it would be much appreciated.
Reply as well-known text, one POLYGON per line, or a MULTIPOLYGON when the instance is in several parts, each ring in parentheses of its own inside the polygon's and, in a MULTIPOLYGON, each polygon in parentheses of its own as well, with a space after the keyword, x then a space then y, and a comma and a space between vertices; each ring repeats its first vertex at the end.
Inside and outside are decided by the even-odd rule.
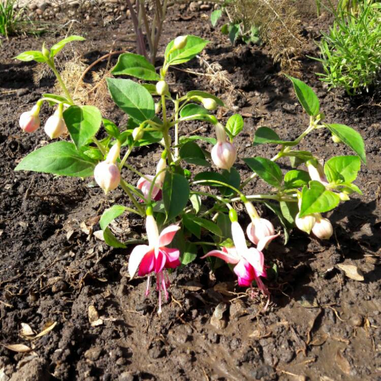
MULTIPOLYGON (((264 47, 232 47, 207 20, 200 22, 200 14, 190 13, 189 20, 179 15, 177 8, 170 10, 163 46, 172 36, 189 31, 212 41, 205 57, 228 71, 234 85, 233 104, 246 115, 237 141, 240 157, 271 157, 276 152, 273 146, 250 145, 260 125, 271 126, 284 139, 300 134, 308 119, 290 82, 279 75, 264 47)), ((326 25, 305 22, 308 35, 319 36, 320 27, 326 25)), ((109 24, 101 32, 89 22, 72 33, 87 37, 79 49, 89 63, 110 50, 112 39, 130 29, 128 20, 109 24)), ((313 74, 319 67, 308 58, 303 60, 303 79, 317 92, 327 120, 353 126, 365 140, 368 165, 356 180, 364 195, 328 213, 335 229, 330 241, 322 243, 294 230, 287 246, 280 239, 272 243, 266 263, 276 263, 279 274, 277 280, 267 282, 271 304, 266 312, 259 297, 242 294, 245 290, 237 287, 225 266, 214 276, 208 264, 197 260, 171 274, 170 301, 159 317, 154 290, 144 298, 145 279, 130 281, 126 276, 129 249, 112 249, 80 228, 85 222, 98 230, 98 218, 106 207, 115 201, 127 202, 120 190, 106 198, 91 179, 13 171, 22 157, 46 139, 43 129, 22 134, 18 115, 41 93, 51 91, 53 82, 48 78, 39 87, 34 85, 34 64, 12 57, 38 49, 42 41, 15 37, 4 41, 0 53, 0 341, 33 345, 35 354, 32 359, 30 354, 2 346, 0 371, 13 374, 12 380, 381 379, 381 270, 377 266, 381 108, 377 94, 350 99, 341 91, 327 92, 313 74), (340 262, 358 266, 365 280, 344 276, 335 267, 340 262), (222 329, 210 324, 219 303, 227 303, 227 327, 222 329), (90 326, 89 306, 105 318, 103 325, 90 326), (21 323, 40 332, 48 322, 57 325, 33 342, 19 336, 21 323), (20 367, 22 362, 26 365, 20 367)), ((113 49, 132 46, 119 39, 113 49)), ((316 54, 313 42, 306 53, 316 54)), ((197 59, 190 67, 202 70, 197 59)), ((211 88, 203 77, 173 71, 170 78, 172 88, 179 92, 197 88, 228 96, 224 90, 211 88)), ((49 112, 43 108, 42 120, 49 112)), ((117 123, 123 122, 116 107, 109 113, 117 123)), ((212 132, 200 122, 189 123, 183 131, 199 128, 205 135, 212 132)), ((325 159, 332 153, 350 153, 332 143, 325 131, 313 138, 301 149, 325 159)), ((154 147, 141 148, 132 162, 150 173, 154 155, 154 147)), ((237 168, 242 176, 248 174, 242 162, 237 168)), ((288 168, 286 162, 283 168, 288 168)), ((125 176, 137 180, 128 173, 125 176)), ((252 192, 266 189, 261 181, 250 186, 252 192)), ((263 213, 277 224, 271 213, 265 209, 263 213)), ((139 238, 142 220, 124 216, 118 227, 122 239, 139 238)))

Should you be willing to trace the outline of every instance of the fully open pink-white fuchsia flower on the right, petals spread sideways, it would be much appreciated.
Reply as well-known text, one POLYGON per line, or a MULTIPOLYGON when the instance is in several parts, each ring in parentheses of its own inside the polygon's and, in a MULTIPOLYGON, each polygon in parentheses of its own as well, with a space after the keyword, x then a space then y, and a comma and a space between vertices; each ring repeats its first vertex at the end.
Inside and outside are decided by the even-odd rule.
POLYGON ((264 294, 269 295, 265 284, 261 280, 261 276, 266 277, 265 259, 262 251, 254 247, 247 247, 245 234, 237 221, 237 213, 231 209, 229 216, 232 221, 234 247, 223 247, 222 250, 209 251, 202 258, 217 257, 227 263, 236 265, 233 271, 238 277, 240 286, 251 286, 252 281, 255 280, 258 288, 264 294))

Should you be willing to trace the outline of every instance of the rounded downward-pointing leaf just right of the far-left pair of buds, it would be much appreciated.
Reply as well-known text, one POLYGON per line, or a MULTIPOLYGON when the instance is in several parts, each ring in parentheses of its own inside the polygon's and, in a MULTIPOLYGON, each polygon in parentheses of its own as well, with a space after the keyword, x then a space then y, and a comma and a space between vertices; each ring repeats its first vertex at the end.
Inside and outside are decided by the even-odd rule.
POLYGON ((102 123, 102 114, 95 106, 70 106, 63 112, 63 119, 79 149, 97 134, 102 123))

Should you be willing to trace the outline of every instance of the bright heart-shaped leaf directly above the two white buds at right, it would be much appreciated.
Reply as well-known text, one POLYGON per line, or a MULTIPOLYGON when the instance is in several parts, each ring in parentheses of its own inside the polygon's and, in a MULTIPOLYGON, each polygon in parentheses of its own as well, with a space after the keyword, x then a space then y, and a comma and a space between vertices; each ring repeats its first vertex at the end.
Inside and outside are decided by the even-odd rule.
POLYGON ((310 181, 309 188, 304 185, 302 190, 302 205, 300 207, 300 217, 312 213, 324 213, 335 208, 340 202, 336 193, 327 190, 319 181, 310 181))

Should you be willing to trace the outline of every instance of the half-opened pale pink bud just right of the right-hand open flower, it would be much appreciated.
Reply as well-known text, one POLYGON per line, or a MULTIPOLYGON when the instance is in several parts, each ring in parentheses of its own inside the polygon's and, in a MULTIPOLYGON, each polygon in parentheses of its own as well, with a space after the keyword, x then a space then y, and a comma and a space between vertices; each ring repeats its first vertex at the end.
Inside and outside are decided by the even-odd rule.
POLYGON ((246 229, 247 237, 253 244, 257 245, 258 250, 262 251, 273 239, 279 236, 279 233, 275 234, 274 226, 268 219, 261 218, 258 215, 251 202, 246 201, 245 207, 251 218, 251 223, 246 229))

